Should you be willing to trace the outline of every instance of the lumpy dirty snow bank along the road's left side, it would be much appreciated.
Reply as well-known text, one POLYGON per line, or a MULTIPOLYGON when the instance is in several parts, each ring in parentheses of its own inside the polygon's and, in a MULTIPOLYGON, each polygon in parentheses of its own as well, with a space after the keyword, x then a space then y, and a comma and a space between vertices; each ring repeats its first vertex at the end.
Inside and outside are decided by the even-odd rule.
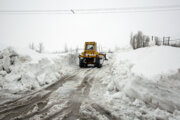
POLYGON ((12 94, 41 89, 70 73, 74 54, 39 54, 30 49, 9 47, 0 51, 0 90, 12 94), (69 65, 71 63, 71 66, 69 65))

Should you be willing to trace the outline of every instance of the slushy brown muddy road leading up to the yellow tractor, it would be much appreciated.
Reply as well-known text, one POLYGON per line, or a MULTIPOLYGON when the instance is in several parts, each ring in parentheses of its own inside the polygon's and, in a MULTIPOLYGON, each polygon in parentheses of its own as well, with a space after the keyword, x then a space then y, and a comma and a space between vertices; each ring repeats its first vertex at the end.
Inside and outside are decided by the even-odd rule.
POLYGON ((93 114, 85 114, 81 106, 95 111, 105 119, 116 120, 108 110, 89 97, 91 87, 97 81, 94 69, 80 69, 64 75, 57 82, 39 91, 0 105, 2 120, 98 120, 93 114), (88 102, 90 101, 90 102, 88 102))

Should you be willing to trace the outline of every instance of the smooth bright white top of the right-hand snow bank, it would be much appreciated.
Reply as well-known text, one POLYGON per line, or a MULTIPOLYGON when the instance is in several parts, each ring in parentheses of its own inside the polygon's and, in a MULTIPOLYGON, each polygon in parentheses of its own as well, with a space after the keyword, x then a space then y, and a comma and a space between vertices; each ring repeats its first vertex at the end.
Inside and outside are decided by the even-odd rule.
POLYGON ((180 68, 180 48, 154 46, 119 54, 121 60, 133 64, 132 72, 151 78, 156 75, 174 74, 180 68))

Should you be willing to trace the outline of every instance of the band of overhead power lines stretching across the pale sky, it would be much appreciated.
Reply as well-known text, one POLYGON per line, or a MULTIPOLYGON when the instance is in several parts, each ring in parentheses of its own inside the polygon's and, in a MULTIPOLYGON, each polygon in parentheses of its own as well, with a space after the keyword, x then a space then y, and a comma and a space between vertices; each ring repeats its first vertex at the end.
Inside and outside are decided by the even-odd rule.
POLYGON ((135 13, 135 12, 163 12, 179 11, 180 5, 122 7, 122 8, 96 8, 96 9, 70 9, 70 10, 0 10, 0 14, 99 14, 99 13, 135 13))

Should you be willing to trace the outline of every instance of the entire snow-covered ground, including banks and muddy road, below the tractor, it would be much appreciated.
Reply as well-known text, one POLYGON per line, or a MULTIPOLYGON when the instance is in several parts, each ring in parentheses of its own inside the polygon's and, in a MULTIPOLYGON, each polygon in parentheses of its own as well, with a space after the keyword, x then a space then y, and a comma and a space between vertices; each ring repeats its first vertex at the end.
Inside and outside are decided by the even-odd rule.
POLYGON ((75 53, 3 49, 0 119, 178 120, 179 53, 168 46, 119 49, 107 54, 102 68, 80 69, 75 53), (29 97, 35 99, 32 106, 26 104, 29 97), (17 104, 27 112, 22 115, 17 104))

